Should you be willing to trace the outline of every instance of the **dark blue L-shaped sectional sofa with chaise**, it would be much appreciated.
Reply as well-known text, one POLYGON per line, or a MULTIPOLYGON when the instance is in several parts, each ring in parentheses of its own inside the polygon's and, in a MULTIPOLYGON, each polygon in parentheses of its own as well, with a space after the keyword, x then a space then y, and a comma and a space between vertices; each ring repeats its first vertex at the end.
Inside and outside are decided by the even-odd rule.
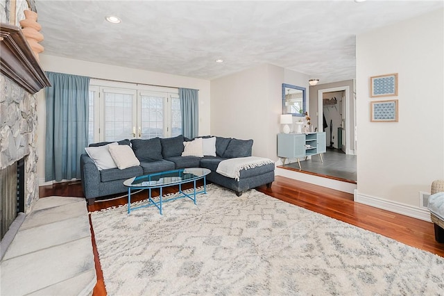
MULTIPOLYGON (((210 136, 200 137, 210 138, 210 136)), ((81 182, 83 193, 88 204, 93 204, 97 197, 128 192, 123 181, 133 176, 142 176, 153 172, 162 172, 186 167, 205 167, 211 170, 207 181, 219 184, 237 195, 243 191, 266 184, 268 187, 275 179, 275 165, 268 163, 240 171, 239 181, 216 172, 219 163, 225 159, 251 156, 253 140, 239 140, 216 136, 215 156, 182 156, 183 142, 191 141, 183 135, 174 138, 153 138, 149 140, 121 140, 119 145, 129 145, 140 165, 123 170, 110 168, 99 170, 88 154, 80 156, 81 182)), ((110 142, 99 142, 89 147, 108 145, 110 142)))

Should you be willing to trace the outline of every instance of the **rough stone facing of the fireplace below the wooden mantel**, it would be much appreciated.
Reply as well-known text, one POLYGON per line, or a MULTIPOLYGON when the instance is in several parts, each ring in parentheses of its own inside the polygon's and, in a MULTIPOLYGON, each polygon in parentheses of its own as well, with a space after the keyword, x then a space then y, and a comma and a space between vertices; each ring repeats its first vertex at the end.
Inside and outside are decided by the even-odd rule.
MULTIPOLYGON (((21 160, 24 161, 23 186, 19 189, 22 190, 24 199, 21 209, 24 213, 29 213, 33 203, 39 198, 36 150, 37 100, 34 94, 30 94, 3 74, 0 74, 0 89, 2 94, 0 97, 1 182, 10 183, 8 176, 9 179, 17 181, 17 176, 12 176, 12 174, 13 172, 17 174, 17 164, 21 160)), ((5 202, 4 199, 17 196, 16 192, 17 189, 14 186, 2 184, 1 204, 12 204, 5 202), (14 192, 8 192, 10 190, 14 192)), ((4 229, 3 219, 1 222, 1 229, 4 229)))

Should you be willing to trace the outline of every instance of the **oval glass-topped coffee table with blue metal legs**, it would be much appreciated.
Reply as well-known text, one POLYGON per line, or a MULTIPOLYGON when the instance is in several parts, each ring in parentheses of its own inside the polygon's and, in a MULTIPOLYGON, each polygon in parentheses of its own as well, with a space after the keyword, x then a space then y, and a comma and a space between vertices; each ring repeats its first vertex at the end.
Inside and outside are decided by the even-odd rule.
POLYGON ((128 187, 128 214, 131 211, 137 210, 137 208, 146 208, 147 206, 156 206, 159 209, 160 215, 162 215, 162 202, 169 202, 175 199, 188 197, 194 204, 196 204, 196 195, 199 193, 207 193, 207 174, 210 174, 210 170, 191 167, 187 169, 171 170, 167 172, 157 172, 153 174, 146 174, 144 176, 135 176, 123 182, 123 185, 128 187), (196 191, 196 181, 203 179, 203 190, 196 191), (182 191, 182 184, 194 182, 194 191, 187 194, 182 191), (162 200, 162 188, 167 186, 179 186, 178 195, 169 199, 162 200), (159 201, 154 202, 151 198, 151 190, 153 188, 159 188, 160 196, 159 201), (148 189, 148 204, 143 206, 136 206, 131 208, 131 190, 148 189))

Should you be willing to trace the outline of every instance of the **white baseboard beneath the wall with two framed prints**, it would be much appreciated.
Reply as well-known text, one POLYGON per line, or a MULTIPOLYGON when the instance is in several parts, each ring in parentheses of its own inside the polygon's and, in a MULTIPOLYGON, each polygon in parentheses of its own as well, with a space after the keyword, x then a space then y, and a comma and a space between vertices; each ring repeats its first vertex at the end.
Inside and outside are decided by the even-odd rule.
POLYGON ((354 199, 355 202, 359 202, 360 204, 366 204, 368 206, 374 206, 375 208, 381 208, 382 210, 432 222, 432 220, 430 220, 430 212, 425 208, 411 206, 409 204, 402 204, 400 202, 393 202, 391 200, 382 199, 379 197, 362 195, 358 193, 357 190, 354 192, 354 199))

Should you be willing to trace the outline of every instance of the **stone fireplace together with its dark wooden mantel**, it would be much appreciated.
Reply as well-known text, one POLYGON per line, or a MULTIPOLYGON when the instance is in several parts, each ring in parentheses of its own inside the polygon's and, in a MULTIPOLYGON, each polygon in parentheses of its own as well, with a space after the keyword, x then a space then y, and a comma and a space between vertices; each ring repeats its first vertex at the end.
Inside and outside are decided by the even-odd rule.
MULTIPOLYGON (((18 211, 28 214, 39 198, 35 93, 51 84, 19 27, 1 24, 0 51, 0 204, 17 208, 17 200, 8 199, 19 197, 18 211)), ((3 224, 10 223, 3 215, 2 238, 9 228, 3 224)))

